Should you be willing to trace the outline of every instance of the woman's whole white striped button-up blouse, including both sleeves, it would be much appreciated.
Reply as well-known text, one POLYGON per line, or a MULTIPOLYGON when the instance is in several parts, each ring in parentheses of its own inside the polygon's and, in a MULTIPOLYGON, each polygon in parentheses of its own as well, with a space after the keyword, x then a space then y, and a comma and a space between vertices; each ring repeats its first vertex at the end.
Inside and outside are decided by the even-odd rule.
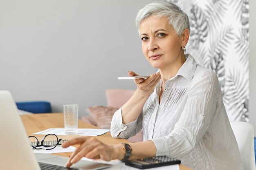
POLYGON ((122 124, 121 108, 116 111, 112 137, 127 139, 143 128, 143 140, 154 142, 157 156, 181 159, 193 170, 243 170, 216 74, 186 54, 176 76, 166 81, 159 104, 161 83, 137 120, 122 124))

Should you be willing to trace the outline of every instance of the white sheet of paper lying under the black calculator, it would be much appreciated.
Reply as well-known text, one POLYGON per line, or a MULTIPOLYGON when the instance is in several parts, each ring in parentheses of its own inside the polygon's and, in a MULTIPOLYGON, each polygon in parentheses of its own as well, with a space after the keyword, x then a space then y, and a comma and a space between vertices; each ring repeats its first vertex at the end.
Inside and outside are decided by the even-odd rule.
MULTIPOLYGON (((86 157, 82 158, 85 161, 93 161, 93 162, 99 162, 99 163, 106 163, 111 164, 111 168, 106 168, 106 170, 139 170, 138 168, 133 168, 130 166, 126 166, 123 162, 120 160, 112 160, 112 161, 103 161, 101 159, 89 159, 86 157)), ((157 168, 149 168, 148 170, 180 170, 179 164, 176 165, 169 165, 169 166, 161 166, 157 168)))

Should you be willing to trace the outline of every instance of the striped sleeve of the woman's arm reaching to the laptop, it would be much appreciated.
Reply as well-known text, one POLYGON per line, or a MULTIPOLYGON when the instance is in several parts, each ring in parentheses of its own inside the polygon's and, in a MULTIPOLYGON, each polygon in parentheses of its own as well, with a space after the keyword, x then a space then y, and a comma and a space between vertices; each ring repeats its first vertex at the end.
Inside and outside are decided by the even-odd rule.
POLYGON ((170 155, 181 159, 191 152, 204 136, 216 113, 218 77, 207 71, 201 73, 190 86, 184 110, 171 133, 150 139, 157 148, 157 156, 170 155))

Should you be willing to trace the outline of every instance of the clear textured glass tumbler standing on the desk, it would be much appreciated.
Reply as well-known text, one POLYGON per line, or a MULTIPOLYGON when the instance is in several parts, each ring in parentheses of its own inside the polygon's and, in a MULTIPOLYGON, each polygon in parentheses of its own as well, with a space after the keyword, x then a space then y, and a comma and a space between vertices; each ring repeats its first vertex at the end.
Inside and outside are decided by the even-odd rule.
POLYGON ((67 104, 63 105, 64 112, 64 130, 65 134, 72 135, 77 132, 78 124, 78 105, 67 104))

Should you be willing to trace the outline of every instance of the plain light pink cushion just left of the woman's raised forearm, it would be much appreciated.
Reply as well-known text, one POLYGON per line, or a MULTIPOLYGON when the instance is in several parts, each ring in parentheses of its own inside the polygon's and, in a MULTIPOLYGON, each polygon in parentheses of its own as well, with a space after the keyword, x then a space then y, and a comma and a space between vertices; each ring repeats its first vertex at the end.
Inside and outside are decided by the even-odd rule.
POLYGON ((135 90, 107 89, 106 98, 108 106, 120 108, 132 97, 135 90))

